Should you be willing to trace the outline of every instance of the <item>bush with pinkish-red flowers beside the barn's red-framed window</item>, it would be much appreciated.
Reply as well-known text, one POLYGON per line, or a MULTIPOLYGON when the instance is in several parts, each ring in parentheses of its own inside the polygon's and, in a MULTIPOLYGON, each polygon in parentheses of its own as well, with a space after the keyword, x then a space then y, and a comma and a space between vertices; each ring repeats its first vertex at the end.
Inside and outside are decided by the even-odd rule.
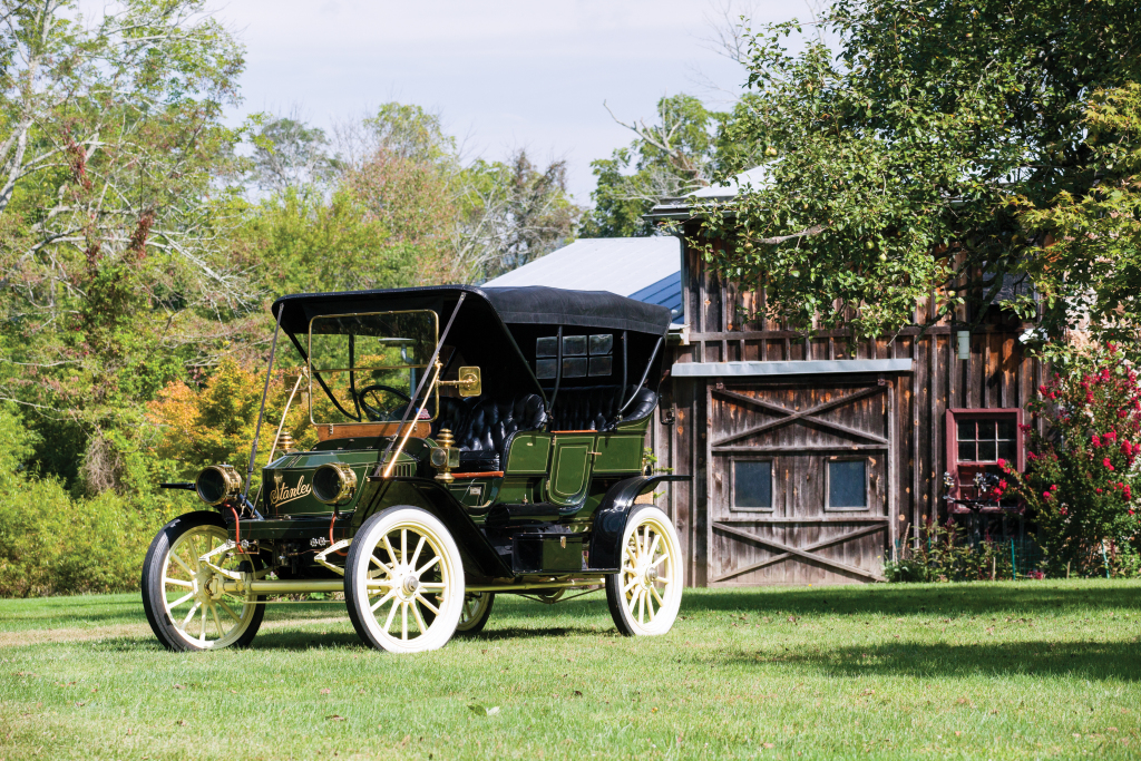
POLYGON ((1141 389, 1112 345, 1074 359, 1028 405, 1047 435, 1023 426, 1027 472, 998 461, 1008 494, 1031 508, 1051 570, 1119 573, 1138 567, 1141 528, 1141 389))

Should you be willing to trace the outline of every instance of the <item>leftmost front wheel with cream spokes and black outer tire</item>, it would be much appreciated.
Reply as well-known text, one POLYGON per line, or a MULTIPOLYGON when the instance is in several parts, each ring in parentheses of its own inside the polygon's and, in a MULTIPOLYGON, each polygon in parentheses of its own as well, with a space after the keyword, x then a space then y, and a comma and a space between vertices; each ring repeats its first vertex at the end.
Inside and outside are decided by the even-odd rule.
MULTIPOLYGON (((253 593, 222 589, 225 577, 202 562, 208 552, 229 540, 217 512, 189 512, 159 531, 143 560, 143 607, 155 637, 171 650, 216 650, 246 647, 265 616, 253 593)), ((260 560, 230 550, 210 562, 225 570, 245 572, 260 560)))

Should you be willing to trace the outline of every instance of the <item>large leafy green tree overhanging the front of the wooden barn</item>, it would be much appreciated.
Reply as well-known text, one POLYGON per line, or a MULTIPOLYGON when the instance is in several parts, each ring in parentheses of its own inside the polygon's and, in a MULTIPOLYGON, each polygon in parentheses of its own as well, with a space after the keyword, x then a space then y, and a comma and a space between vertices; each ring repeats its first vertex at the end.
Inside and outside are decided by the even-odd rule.
POLYGON ((932 294, 933 318, 977 322, 1027 277, 1046 298, 1045 335, 1079 324, 1066 301, 1084 296, 1095 254, 1055 260, 1058 220, 1042 212, 1106 179, 1085 113, 1099 89, 1139 79, 1136 14, 1109 0, 840 0, 820 18, 839 57, 820 42, 790 55, 795 22, 750 33, 752 100, 725 137, 776 160, 768 186, 699 210, 706 256, 762 281, 770 316, 801 327, 818 316, 890 332, 932 294))

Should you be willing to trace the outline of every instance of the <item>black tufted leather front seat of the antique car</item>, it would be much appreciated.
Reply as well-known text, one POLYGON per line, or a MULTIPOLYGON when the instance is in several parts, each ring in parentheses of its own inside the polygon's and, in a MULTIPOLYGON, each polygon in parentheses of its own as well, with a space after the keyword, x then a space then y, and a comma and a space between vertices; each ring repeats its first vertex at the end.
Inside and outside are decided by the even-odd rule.
POLYGON ((444 397, 431 432, 436 436, 442 428, 451 428, 460 448, 461 472, 494 471, 501 470, 517 431, 539 430, 545 423, 547 410, 537 394, 512 399, 444 397))

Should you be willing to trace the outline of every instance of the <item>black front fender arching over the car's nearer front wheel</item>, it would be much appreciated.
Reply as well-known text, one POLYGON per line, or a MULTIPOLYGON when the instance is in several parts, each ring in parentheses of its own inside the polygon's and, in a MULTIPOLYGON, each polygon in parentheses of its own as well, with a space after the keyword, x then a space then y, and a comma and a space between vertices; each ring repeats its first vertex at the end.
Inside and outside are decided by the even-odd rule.
POLYGON ((468 509, 452 496, 451 492, 432 479, 377 478, 373 480, 373 477, 370 477, 357 504, 367 507, 363 510, 358 507, 356 515, 353 516, 354 533, 366 518, 379 510, 397 504, 423 508, 439 518, 447 531, 452 533, 452 539, 460 548, 464 573, 493 578, 515 576, 511 567, 503 561, 492 543, 487 541, 483 529, 468 515, 468 509))

